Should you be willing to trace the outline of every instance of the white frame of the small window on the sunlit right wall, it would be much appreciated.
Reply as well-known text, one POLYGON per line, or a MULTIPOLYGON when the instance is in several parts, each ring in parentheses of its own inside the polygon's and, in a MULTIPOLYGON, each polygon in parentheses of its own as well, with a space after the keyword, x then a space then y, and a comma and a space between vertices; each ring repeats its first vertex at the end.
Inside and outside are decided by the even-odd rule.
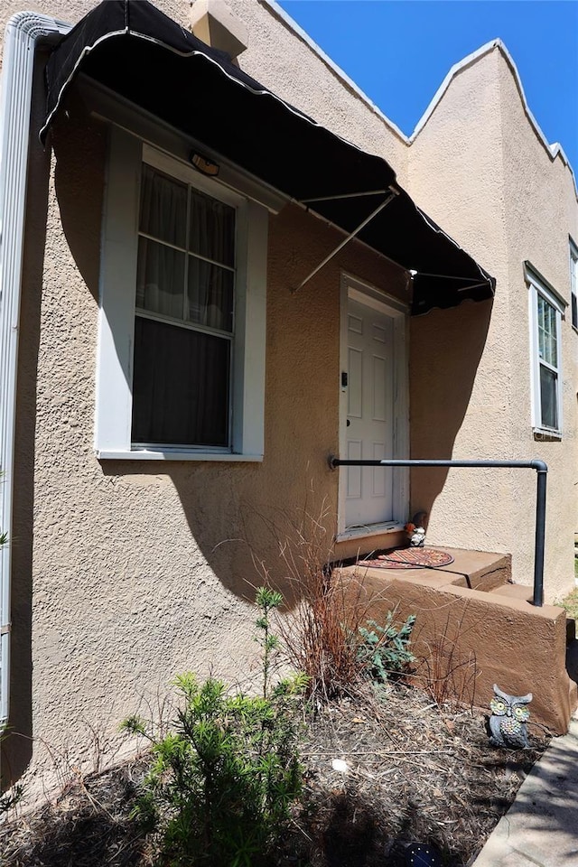
POLYGON ((563 369, 562 369, 562 319, 566 303, 551 286, 546 286, 544 279, 535 269, 525 263, 525 278, 528 286, 528 319, 530 325, 530 387, 532 396, 531 418, 532 430, 538 435, 562 439, 564 430, 563 418, 563 369), (556 315, 556 404, 558 411, 558 426, 545 427, 542 424, 542 406, 540 397, 540 357, 538 351, 538 295, 555 309, 556 315))

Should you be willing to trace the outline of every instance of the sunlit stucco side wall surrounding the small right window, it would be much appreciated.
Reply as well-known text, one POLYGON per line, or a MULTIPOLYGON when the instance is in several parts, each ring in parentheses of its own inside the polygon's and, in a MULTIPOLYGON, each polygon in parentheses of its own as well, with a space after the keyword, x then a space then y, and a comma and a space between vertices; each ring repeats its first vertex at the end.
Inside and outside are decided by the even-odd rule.
MULTIPOLYGON (((512 445, 516 456, 533 453, 549 467, 546 587, 560 598, 573 583, 573 532, 577 514, 576 353, 572 328, 568 236, 578 208, 573 178, 560 157, 552 160, 528 122, 517 82, 507 59, 499 56, 503 128, 504 201, 508 232, 510 286, 509 342, 517 387, 512 392, 512 445), (561 441, 536 437, 530 424, 528 290, 522 263, 529 260, 568 304, 562 322, 563 435, 561 441)), ((518 514, 530 516, 533 491, 517 490, 518 514)), ((531 551, 526 552, 531 570, 531 551)), ((523 552, 520 552, 520 559, 523 552)))

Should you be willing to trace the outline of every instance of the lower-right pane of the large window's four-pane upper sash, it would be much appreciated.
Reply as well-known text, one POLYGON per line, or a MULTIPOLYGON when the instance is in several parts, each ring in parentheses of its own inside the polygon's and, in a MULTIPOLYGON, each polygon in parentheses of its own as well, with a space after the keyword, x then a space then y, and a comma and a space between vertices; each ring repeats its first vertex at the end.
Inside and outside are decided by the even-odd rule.
POLYGON ((232 271, 189 256, 189 318, 191 322, 233 331, 232 271))

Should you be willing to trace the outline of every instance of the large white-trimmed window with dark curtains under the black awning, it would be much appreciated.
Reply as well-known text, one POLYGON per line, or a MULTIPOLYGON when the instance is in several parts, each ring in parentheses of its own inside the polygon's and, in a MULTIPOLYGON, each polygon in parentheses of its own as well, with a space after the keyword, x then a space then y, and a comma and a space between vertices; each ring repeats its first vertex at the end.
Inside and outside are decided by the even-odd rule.
POLYGON ((100 458, 263 455, 266 208, 112 127, 100 458))

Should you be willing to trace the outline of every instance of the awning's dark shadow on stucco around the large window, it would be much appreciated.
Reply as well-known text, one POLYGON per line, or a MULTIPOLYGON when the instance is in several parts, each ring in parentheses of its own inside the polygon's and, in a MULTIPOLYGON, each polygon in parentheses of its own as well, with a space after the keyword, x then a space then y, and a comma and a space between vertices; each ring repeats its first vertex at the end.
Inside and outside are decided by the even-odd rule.
MULTIPOLYGON (((72 94, 70 116, 78 119, 85 110, 72 94)), ((64 115, 57 120, 52 135, 61 225, 96 303, 101 214, 96 207, 86 219, 79 219, 79 213, 86 213, 87 183, 95 185, 95 177, 102 183, 104 178, 105 135, 106 128, 96 121, 83 117, 80 123, 69 123, 64 115), (88 164, 96 167, 90 170, 92 181, 87 181, 88 164)), ((309 294, 291 294, 288 286, 306 268, 302 256, 292 253, 301 250, 304 231, 309 233, 308 254, 319 261, 334 244, 329 229, 299 209, 285 209, 270 221, 269 246, 274 253, 269 256, 268 275, 266 463, 100 464, 105 479, 118 480, 119 496, 128 488, 142 490, 138 498, 141 514, 133 516, 136 523, 145 520, 149 506, 150 514, 154 513, 154 498, 158 496, 155 479, 170 480, 190 528, 191 544, 219 583, 239 598, 253 601, 255 587, 264 580, 261 564, 266 564, 271 583, 284 593, 289 605, 294 604, 298 592, 294 583, 286 580, 287 568, 279 550, 287 539, 298 540, 308 525, 317 534, 319 555, 323 546, 329 555, 337 503, 338 477, 329 470, 327 455, 337 449, 338 391, 329 376, 313 378, 312 371, 326 369, 330 359, 337 377, 340 262, 326 270, 321 284, 318 282, 309 294), (286 259, 279 259, 280 251, 286 259), (328 310, 328 297, 335 305, 334 315, 328 310)))

